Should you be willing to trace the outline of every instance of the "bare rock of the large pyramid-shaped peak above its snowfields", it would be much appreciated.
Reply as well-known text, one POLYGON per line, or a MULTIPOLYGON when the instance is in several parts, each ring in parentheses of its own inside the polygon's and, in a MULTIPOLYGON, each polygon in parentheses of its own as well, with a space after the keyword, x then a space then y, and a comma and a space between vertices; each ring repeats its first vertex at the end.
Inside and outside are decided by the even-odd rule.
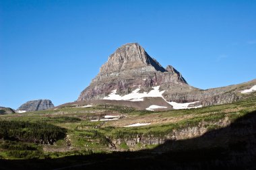
POLYGON ((103 99, 113 90, 125 95, 137 87, 141 91, 150 91, 156 85, 165 89, 177 85, 185 85, 183 89, 189 86, 176 69, 171 66, 164 69, 138 43, 128 43, 108 57, 100 67, 100 73, 77 100, 103 99))

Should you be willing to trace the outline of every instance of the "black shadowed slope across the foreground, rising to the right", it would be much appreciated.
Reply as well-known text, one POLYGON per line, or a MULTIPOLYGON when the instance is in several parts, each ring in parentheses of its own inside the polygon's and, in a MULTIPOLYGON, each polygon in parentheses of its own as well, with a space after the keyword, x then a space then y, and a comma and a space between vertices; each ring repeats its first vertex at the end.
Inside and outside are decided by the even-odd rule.
POLYGON ((144 151, 45 160, 1 160, 0 169, 255 169, 256 111, 197 138, 144 151))

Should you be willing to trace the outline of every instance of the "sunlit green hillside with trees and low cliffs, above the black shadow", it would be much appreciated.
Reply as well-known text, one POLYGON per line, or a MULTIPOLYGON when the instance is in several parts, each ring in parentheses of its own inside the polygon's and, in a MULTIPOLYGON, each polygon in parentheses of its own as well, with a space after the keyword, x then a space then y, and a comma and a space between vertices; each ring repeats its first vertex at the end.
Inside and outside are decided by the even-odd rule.
POLYGON ((255 110, 253 93, 248 99, 236 103, 168 112, 111 105, 92 108, 71 105, 55 110, 1 115, 0 157, 45 159, 156 148, 166 139, 193 138, 228 126, 255 110), (120 119, 90 121, 106 115, 120 116, 120 119), (135 123, 150 125, 123 127, 135 123))

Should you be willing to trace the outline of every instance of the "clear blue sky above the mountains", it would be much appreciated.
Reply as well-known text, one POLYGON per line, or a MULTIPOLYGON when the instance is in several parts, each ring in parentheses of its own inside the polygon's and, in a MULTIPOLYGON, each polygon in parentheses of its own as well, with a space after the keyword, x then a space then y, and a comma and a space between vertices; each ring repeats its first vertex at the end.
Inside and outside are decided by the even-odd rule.
POLYGON ((0 1, 0 105, 75 101, 116 48, 138 42, 207 89, 256 78, 256 1, 0 1))

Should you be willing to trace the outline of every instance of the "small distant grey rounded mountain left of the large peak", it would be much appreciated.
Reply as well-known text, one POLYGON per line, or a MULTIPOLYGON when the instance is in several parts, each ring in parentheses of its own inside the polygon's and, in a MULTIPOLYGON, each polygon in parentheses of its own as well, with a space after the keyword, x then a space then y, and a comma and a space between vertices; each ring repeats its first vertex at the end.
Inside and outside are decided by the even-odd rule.
POLYGON ((28 101, 20 106, 16 112, 22 113, 22 112, 32 112, 32 111, 38 111, 38 110, 47 110, 50 108, 54 108, 54 105, 51 100, 49 99, 38 99, 38 100, 32 100, 28 101))

